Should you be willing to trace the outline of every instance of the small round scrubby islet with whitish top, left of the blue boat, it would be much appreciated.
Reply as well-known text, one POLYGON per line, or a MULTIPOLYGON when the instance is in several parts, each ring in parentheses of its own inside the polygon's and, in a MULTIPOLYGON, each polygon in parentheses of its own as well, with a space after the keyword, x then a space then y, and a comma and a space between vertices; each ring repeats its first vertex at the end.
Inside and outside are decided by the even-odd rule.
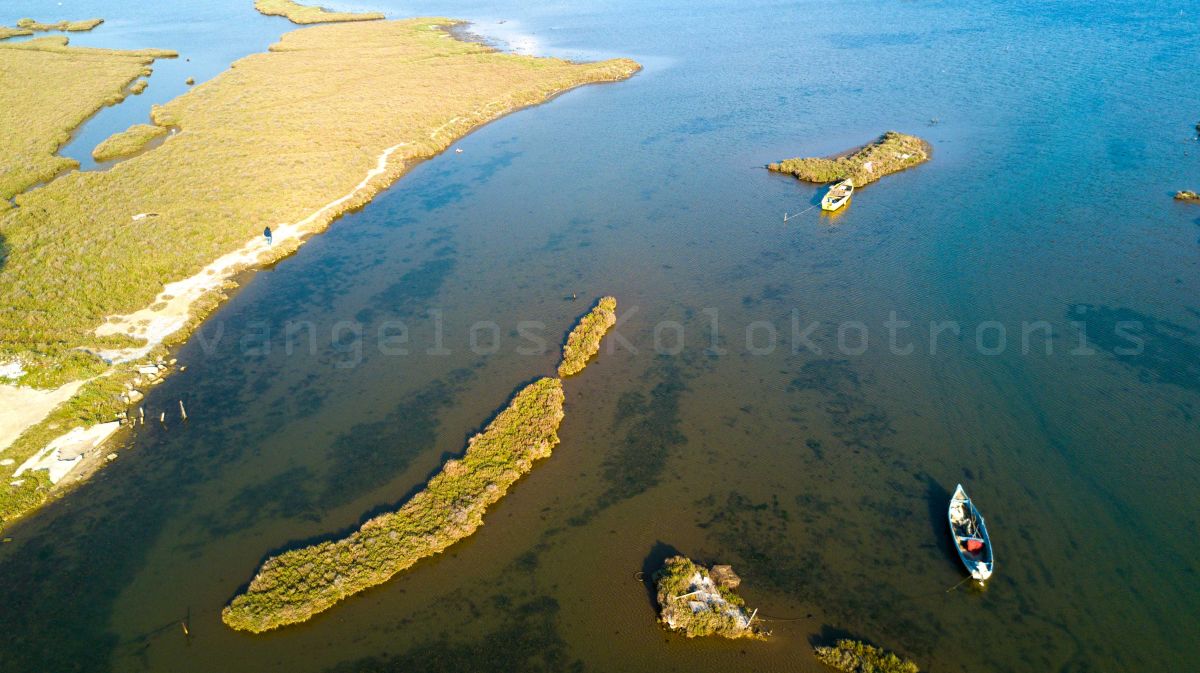
POLYGON ((689 638, 721 636, 725 638, 766 638, 767 632, 754 624, 745 601, 733 589, 740 583, 725 565, 709 571, 684 557, 671 557, 654 576, 658 591, 659 620, 670 630, 689 638))

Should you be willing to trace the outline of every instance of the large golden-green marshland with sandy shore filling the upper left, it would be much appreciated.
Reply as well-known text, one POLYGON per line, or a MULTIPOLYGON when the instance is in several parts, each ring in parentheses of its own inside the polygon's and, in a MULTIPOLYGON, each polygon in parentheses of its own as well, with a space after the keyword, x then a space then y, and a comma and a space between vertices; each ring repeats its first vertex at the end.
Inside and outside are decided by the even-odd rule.
MULTIPOLYGON (((6 383, 66 396, 49 398, 41 421, 0 427, 0 446, 19 433, 0 450, 0 525, 61 492, 46 470, 18 479, 16 467, 67 429, 125 411, 126 385, 145 385, 138 366, 184 339, 238 272, 290 254, 473 128, 640 70, 629 59, 504 54, 454 38, 446 29, 457 23, 288 32, 269 52, 154 108, 155 126, 178 130, 168 142, 112 170, 68 173, 19 193, 16 208, 4 210, 0 200, 0 372, 8 373, 0 405, 16 390, 6 383), (274 246, 263 241, 268 226, 274 246), (85 379, 72 397, 71 386, 85 379)), ((0 44, 0 82, 14 106, 0 114, 0 162, 11 162, 0 182, 5 196, 73 166, 53 152, 95 108, 79 104, 85 96, 70 85, 88 82, 90 61, 62 67, 94 55, 60 53, 61 43, 30 47, 38 44, 46 43, 0 44), (47 79, 56 85, 42 86, 47 79), (65 119, 62 110, 74 112, 65 119)), ((144 67, 134 61, 94 97, 120 95, 144 67)))

